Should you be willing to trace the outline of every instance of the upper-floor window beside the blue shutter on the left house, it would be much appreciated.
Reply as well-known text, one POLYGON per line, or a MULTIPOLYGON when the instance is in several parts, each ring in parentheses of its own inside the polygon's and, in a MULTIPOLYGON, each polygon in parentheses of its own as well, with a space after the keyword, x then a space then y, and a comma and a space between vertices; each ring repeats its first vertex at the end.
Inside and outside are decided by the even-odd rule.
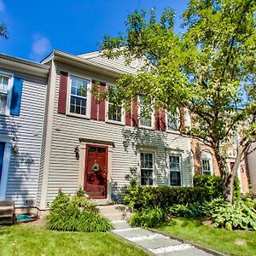
POLYGON ((11 76, 0 73, 0 114, 9 113, 11 76))

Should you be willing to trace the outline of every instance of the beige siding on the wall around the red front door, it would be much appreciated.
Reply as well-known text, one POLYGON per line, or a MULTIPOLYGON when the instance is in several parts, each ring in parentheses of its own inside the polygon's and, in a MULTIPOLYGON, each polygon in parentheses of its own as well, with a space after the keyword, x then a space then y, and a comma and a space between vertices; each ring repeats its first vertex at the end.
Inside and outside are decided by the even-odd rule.
MULTIPOLYGON (((67 70, 67 69, 66 69, 67 70)), ((88 77, 88 76, 87 76, 88 77)), ((96 74, 91 74, 96 78, 96 74)), ((130 126, 114 125, 101 121, 83 119, 57 113, 60 76, 57 75, 54 106, 54 130, 49 164, 47 202, 49 204, 58 189, 73 194, 79 187, 79 161, 74 148, 80 146, 79 138, 96 139, 114 143, 112 158, 112 192, 123 192, 130 183, 131 168, 137 169, 138 148, 155 151, 156 183, 166 185, 168 171, 166 158, 168 150, 178 150, 183 156, 183 185, 190 185, 189 139, 175 133, 134 129, 130 126), (126 134, 126 136, 124 136, 126 134), (127 139, 129 147, 124 148, 127 139), (135 147, 132 147, 134 145, 135 147)), ((80 149, 80 155, 81 155, 80 149)), ((84 161, 82 159, 81 161, 84 161)), ((108 170, 109 172, 110 170, 108 170)))

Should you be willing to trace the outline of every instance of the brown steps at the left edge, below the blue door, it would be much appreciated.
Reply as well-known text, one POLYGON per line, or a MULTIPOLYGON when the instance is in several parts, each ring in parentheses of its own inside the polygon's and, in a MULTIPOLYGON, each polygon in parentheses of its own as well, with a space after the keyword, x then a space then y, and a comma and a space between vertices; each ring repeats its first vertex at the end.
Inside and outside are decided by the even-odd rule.
POLYGON ((0 201, 0 225, 13 224, 14 212, 14 201, 0 201))

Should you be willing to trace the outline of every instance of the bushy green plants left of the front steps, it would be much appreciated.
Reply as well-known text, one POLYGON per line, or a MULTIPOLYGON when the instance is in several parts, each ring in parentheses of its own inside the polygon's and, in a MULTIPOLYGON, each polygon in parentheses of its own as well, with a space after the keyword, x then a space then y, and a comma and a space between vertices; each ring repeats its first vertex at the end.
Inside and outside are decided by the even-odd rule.
POLYGON ((59 191, 50 206, 47 217, 49 230, 106 232, 113 229, 108 219, 96 210, 96 204, 88 201, 79 190, 71 199, 59 191))

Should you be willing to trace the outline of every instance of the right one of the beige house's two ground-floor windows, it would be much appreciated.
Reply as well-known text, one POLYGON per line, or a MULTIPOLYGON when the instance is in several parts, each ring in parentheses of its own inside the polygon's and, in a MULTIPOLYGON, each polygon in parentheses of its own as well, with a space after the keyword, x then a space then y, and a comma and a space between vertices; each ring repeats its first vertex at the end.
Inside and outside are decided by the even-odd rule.
POLYGON ((179 155, 170 155, 170 185, 181 186, 181 157, 179 155))

